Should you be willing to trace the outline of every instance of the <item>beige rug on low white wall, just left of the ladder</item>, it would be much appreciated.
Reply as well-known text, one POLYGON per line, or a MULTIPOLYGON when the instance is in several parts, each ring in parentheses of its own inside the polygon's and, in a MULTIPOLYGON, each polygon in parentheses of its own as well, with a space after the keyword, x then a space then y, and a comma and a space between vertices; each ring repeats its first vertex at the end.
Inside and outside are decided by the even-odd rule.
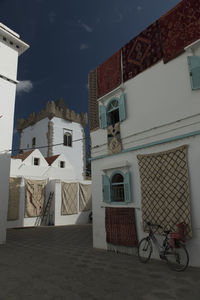
POLYGON ((41 216, 45 203, 46 180, 25 180, 25 212, 24 217, 41 216))

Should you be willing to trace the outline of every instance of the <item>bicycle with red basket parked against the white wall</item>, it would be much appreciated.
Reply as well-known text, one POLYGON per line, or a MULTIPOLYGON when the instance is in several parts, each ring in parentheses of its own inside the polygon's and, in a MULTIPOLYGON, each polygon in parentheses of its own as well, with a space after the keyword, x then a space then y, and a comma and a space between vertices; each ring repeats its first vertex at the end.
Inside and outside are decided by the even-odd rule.
POLYGON ((184 245, 183 226, 184 223, 178 224, 179 231, 163 230, 164 240, 162 245, 156 239, 152 227, 161 228, 159 224, 145 222, 149 227, 149 235, 143 238, 138 245, 138 257, 142 263, 147 263, 153 252, 152 242, 162 260, 165 260, 169 267, 177 272, 184 271, 188 267, 189 255, 184 245), (182 230, 182 231, 181 231, 182 230), (169 237, 170 235, 170 237, 169 237), (151 242, 152 241, 152 242, 151 242))

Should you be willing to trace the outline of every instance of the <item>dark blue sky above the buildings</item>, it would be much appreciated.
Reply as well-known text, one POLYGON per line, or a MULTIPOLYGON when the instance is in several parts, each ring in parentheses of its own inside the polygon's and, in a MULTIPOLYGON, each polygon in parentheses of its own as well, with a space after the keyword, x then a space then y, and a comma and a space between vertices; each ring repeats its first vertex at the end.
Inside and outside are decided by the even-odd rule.
MULTIPOLYGON (((88 73, 180 0, 0 0, 0 22, 30 49, 18 63, 16 119, 62 97, 88 111, 88 73)), ((87 130, 87 134, 88 130, 87 130)), ((13 148, 18 147, 14 129, 13 148)))

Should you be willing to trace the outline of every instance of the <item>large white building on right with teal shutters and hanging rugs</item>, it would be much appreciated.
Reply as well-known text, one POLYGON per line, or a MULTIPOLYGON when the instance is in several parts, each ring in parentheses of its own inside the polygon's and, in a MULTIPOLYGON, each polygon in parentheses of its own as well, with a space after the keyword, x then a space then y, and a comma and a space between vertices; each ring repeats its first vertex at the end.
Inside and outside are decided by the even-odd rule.
MULTIPOLYGON (((158 20, 162 38, 167 17, 182 9, 180 5, 185 2, 158 20)), ((185 18, 187 24, 189 16, 185 18)), ((114 231, 123 232, 122 240, 123 235, 130 234, 125 230, 126 222, 121 221, 129 220, 121 213, 127 208, 134 212, 135 220, 133 217, 131 222, 138 241, 146 235, 145 220, 173 225, 174 230, 179 221, 186 221, 190 265, 200 266, 200 40, 193 31, 193 41, 187 37, 185 45, 175 53, 178 46, 172 46, 175 41, 170 44, 170 36, 178 39, 179 35, 168 35, 168 40, 161 39, 162 54, 156 52, 158 47, 154 48, 155 34, 148 40, 147 33, 151 35, 152 31, 148 27, 89 75, 93 245, 131 252, 134 247, 126 243, 128 237, 124 244, 114 240, 112 243, 114 231), (173 57, 167 57, 169 45, 173 57), (106 87, 102 78, 108 80, 106 87), (148 210, 147 202, 151 200, 148 210), (170 201, 174 201, 174 207, 170 207, 170 201), (106 212, 110 213, 107 208, 112 208, 113 214, 121 213, 121 219, 115 218, 115 229, 106 223, 106 212), (109 230, 113 230, 113 236, 109 230)), ((157 38, 159 43, 159 35, 157 38)))

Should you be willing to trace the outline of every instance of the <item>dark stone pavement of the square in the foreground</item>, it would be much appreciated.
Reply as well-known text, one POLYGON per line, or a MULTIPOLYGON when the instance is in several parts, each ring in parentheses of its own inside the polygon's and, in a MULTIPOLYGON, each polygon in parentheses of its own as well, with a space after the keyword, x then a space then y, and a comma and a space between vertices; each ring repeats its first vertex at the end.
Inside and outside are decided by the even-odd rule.
POLYGON ((91 225, 9 229, 0 300, 199 300, 200 269, 92 248, 91 225))

